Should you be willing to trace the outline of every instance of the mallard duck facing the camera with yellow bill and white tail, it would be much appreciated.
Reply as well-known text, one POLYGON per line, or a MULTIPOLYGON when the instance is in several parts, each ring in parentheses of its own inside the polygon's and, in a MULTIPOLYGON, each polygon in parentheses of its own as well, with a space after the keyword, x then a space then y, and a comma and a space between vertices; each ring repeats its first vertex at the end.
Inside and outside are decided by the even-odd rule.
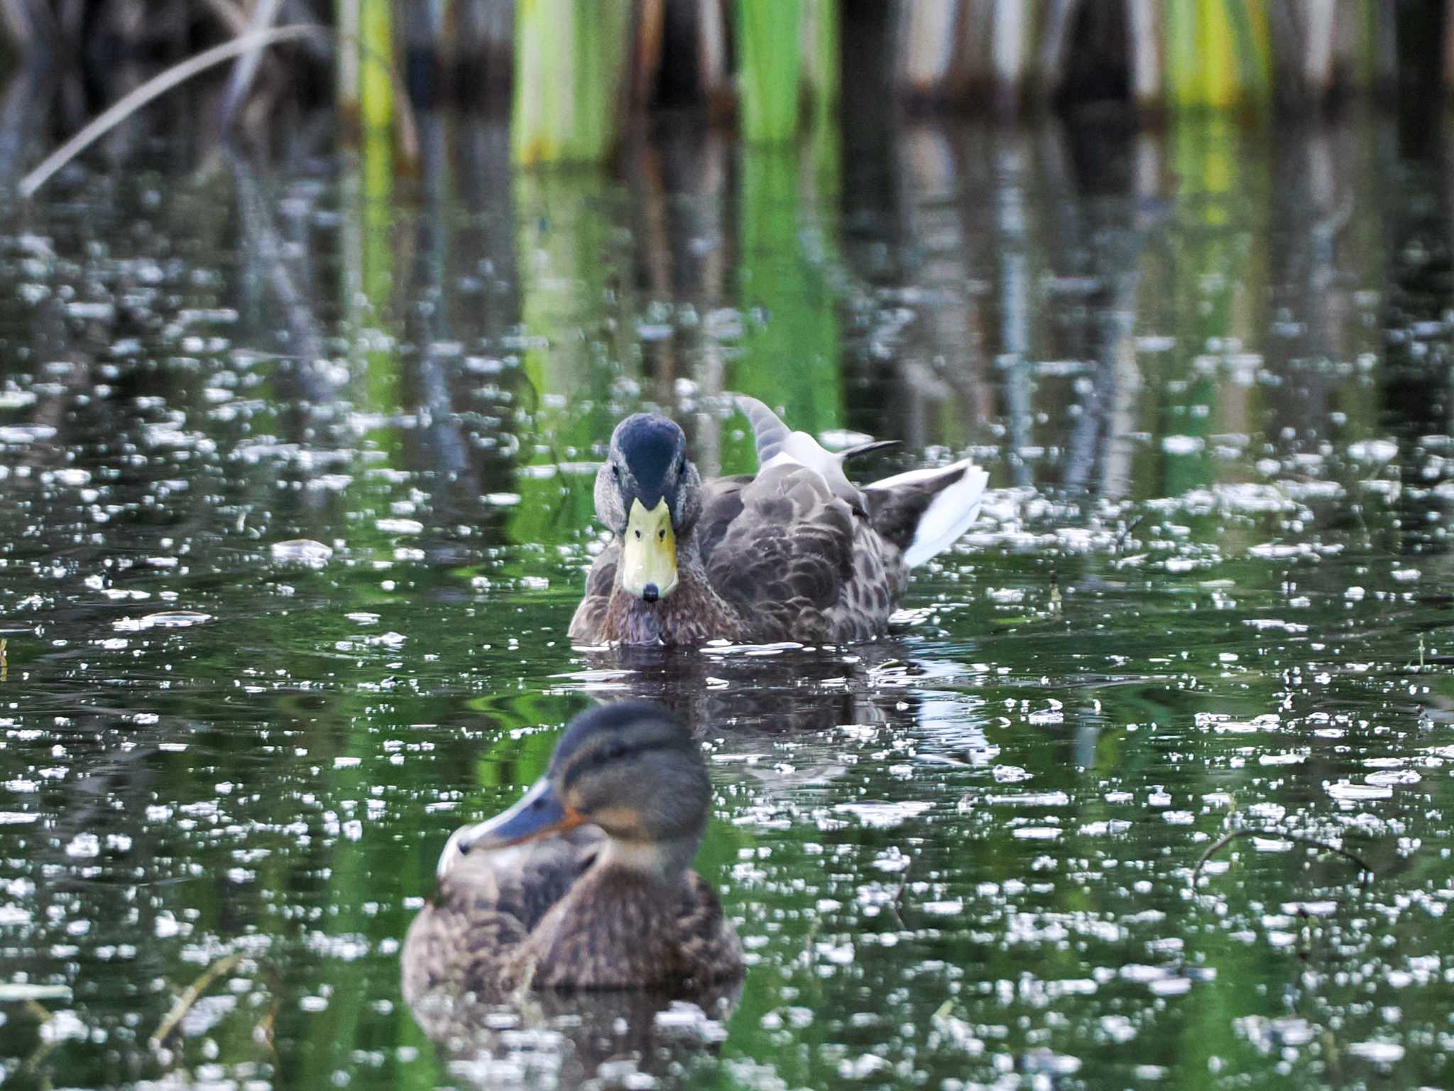
POLYGON ((954 544, 989 474, 965 460, 862 489, 846 458, 739 397, 758 473, 702 481, 686 436, 656 413, 628 416, 596 473, 611 531, 586 578, 570 637, 587 644, 848 643, 888 628, 909 569, 954 544))

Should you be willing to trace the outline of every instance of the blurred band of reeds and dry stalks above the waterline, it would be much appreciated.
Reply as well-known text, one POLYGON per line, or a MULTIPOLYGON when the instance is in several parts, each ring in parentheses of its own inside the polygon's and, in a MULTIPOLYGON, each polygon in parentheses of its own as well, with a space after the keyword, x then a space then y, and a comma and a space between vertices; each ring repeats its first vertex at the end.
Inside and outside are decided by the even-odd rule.
POLYGON ((336 97, 345 132, 397 124, 411 153, 409 108, 461 102, 510 113, 519 163, 608 160, 660 108, 791 141, 840 111, 845 81, 849 124, 865 96, 1002 119, 1128 103, 1159 122, 1437 97, 1454 73, 1454 19, 1434 0, 0 0, 0 13, 9 63, 55 96, 52 137, 252 33, 272 52, 224 58, 222 124, 266 135, 282 100, 336 97), (317 32, 262 36, 285 25, 317 32))

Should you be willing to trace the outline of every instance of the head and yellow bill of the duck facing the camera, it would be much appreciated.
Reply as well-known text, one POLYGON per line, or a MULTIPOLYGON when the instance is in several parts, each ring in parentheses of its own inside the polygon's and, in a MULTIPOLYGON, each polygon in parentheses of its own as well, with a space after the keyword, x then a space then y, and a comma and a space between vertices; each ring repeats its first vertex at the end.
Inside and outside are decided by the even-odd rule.
POLYGON ((702 509, 686 436, 656 413, 628 416, 611 433, 596 473, 596 515, 621 540, 621 586, 646 602, 676 589, 676 543, 702 509))

